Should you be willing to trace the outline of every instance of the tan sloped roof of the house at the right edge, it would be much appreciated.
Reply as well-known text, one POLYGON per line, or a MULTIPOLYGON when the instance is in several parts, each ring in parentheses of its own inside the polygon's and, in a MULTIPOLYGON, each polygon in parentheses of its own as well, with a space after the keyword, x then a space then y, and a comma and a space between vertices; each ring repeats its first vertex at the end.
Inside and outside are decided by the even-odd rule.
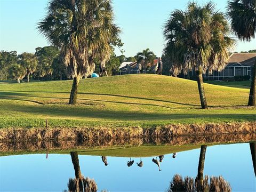
POLYGON ((256 53, 232 53, 228 66, 253 66, 255 59, 256 53))

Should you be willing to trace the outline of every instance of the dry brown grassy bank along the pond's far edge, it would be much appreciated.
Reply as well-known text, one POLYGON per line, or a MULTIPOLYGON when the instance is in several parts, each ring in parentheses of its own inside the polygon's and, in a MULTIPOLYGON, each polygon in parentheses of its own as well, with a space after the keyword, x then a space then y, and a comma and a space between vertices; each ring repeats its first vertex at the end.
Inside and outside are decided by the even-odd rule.
POLYGON ((233 133, 256 133, 256 122, 223 123, 202 125, 166 125, 143 129, 142 127, 84 127, 84 128, 43 128, 43 129, 0 129, 0 141, 49 141, 49 140, 130 140, 147 139, 156 141, 158 138, 171 139, 177 136, 199 136, 233 133))

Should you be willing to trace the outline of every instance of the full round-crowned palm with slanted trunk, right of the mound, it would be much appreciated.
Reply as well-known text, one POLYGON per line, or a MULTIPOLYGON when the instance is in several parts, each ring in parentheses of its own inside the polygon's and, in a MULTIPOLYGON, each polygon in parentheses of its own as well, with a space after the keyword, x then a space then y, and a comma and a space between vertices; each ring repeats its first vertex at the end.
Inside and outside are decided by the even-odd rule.
POLYGON ((203 109, 208 108, 203 86, 203 73, 206 70, 225 68, 229 49, 235 41, 229 34, 225 15, 215 11, 212 2, 198 6, 189 3, 186 11, 174 10, 164 26, 164 54, 172 64, 173 75, 197 71, 197 84, 203 109))

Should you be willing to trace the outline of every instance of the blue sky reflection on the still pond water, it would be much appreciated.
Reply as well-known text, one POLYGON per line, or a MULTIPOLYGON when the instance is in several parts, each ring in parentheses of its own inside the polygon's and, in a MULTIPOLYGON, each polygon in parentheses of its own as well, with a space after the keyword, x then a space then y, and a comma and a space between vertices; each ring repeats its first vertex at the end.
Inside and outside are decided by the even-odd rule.
MULTIPOLYGON (((108 166, 97 156, 79 155, 85 177, 94 178, 98 191, 165 191, 173 175, 196 177, 200 149, 165 155, 159 172, 152 157, 140 158, 127 167, 130 158, 108 157, 108 166)), ((161 154, 159 154, 161 155, 161 154)), ((249 143, 207 147, 204 175, 222 175, 233 191, 255 191, 255 176, 249 143)), ((1 191, 60 191, 67 189, 75 172, 70 155, 20 155, 0 157, 1 191)))

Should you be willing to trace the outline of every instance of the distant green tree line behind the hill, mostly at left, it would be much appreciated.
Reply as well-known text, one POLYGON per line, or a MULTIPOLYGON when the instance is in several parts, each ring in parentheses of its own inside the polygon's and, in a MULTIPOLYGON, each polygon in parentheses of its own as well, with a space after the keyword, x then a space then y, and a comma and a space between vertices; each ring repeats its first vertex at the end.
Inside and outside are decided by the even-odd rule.
MULTIPOLYGON (((112 44, 110 59, 106 62, 106 70, 109 75, 118 75, 122 62, 136 61, 134 57, 126 58, 124 54, 119 56, 115 54, 115 47, 124 53, 124 50, 121 49, 122 46, 121 39, 117 39, 117 42, 112 44)), ((99 74, 99 59, 96 58, 94 63, 94 72, 99 74)), ((31 78, 39 81, 71 79, 67 73, 67 66, 60 60, 60 51, 54 46, 37 47, 35 53, 0 52, 1 81, 15 80, 20 83, 22 79, 29 82, 31 78)))

